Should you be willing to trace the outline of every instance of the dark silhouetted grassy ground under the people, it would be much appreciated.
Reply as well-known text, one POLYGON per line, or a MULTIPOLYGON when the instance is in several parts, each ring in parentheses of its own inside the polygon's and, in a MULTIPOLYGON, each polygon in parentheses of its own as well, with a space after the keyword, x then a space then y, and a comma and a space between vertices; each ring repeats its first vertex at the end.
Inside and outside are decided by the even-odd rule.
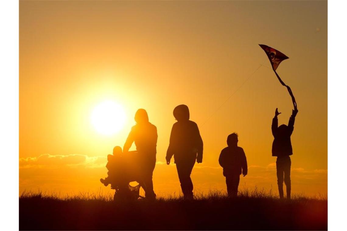
POLYGON ((237 198, 221 192, 194 200, 114 202, 112 195, 23 193, 20 230, 327 230, 327 197, 293 195, 279 200, 263 190, 237 198))

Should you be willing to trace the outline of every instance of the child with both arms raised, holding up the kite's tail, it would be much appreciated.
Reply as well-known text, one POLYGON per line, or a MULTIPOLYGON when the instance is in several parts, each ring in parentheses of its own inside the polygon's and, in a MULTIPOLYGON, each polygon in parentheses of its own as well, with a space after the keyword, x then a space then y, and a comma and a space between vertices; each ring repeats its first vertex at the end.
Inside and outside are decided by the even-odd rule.
POLYGON ((274 137, 272 143, 272 156, 277 157, 276 170, 277 170, 277 185, 280 198, 283 198, 283 180, 287 187, 287 199, 290 199, 290 155, 293 155, 293 149, 291 148, 290 135, 294 130, 295 116, 298 110, 293 110, 288 126, 282 124, 278 127, 277 116, 281 114, 278 112, 278 108, 275 111, 275 117, 272 119, 272 135, 274 137))

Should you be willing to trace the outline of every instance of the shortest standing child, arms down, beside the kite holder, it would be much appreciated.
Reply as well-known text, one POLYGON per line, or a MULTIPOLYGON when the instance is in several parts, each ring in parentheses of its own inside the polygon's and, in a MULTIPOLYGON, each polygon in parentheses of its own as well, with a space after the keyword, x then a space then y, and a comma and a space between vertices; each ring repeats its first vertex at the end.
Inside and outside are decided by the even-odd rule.
POLYGON ((240 175, 247 175, 247 159, 245 152, 237 146, 237 133, 228 135, 227 144, 219 155, 219 164, 226 178, 228 196, 237 196, 240 175))

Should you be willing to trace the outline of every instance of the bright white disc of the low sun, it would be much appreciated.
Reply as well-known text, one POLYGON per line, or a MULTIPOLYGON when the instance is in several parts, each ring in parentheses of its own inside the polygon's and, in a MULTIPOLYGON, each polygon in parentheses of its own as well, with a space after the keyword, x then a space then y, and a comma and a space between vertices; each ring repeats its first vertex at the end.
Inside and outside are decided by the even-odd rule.
POLYGON ((121 105, 108 100, 93 109, 90 119, 96 131, 113 135, 124 127, 126 115, 121 105))

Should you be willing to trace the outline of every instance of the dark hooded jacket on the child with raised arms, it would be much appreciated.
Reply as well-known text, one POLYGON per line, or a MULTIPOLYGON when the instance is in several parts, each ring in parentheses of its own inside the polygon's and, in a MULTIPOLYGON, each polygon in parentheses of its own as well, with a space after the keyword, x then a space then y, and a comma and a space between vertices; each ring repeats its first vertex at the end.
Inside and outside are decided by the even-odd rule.
POLYGON ((294 130, 295 117, 290 116, 288 126, 282 124, 278 127, 278 119, 275 116, 272 119, 272 135, 274 140, 272 142, 272 156, 282 157, 293 155, 293 149, 291 147, 290 136, 294 130))

